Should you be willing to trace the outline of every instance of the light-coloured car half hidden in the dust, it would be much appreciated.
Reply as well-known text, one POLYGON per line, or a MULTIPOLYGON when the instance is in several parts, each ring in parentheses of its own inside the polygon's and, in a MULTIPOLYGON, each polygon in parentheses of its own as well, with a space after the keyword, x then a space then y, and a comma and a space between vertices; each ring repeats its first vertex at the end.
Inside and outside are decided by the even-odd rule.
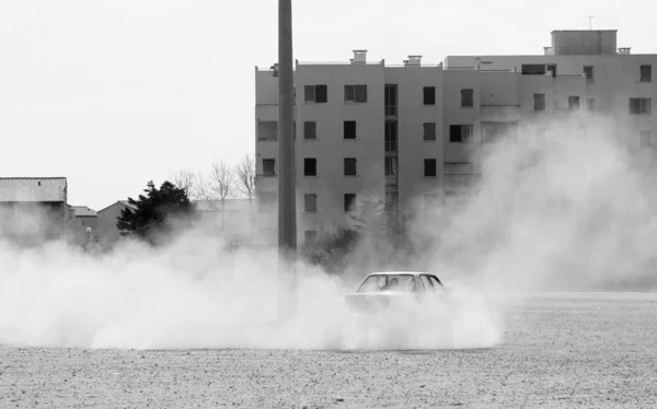
POLYGON ((372 272, 362 280, 356 292, 346 295, 346 302, 351 308, 367 311, 445 303, 449 293, 450 290, 440 279, 428 272, 372 272))

